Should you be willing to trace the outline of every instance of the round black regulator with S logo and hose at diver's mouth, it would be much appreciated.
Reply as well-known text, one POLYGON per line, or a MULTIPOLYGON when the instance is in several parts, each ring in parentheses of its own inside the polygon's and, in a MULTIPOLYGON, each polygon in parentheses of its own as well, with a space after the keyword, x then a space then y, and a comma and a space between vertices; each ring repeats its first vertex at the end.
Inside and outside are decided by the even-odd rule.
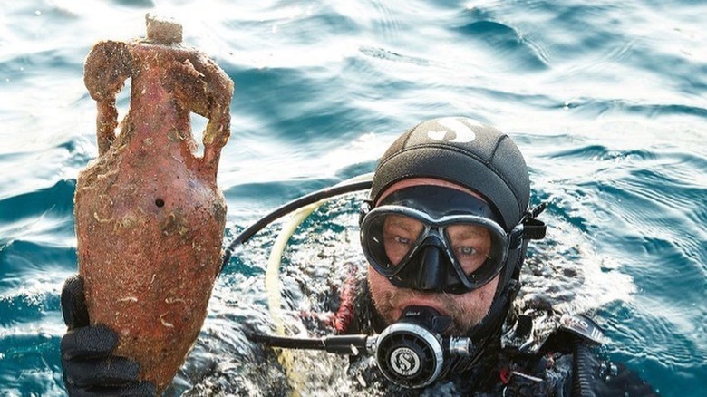
POLYGON ((381 373, 407 388, 424 387, 449 370, 456 359, 470 357, 474 348, 466 336, 441 336, 450 317, 427 306, 409 306, 381 334, 293 338, 251 334, 250 339, 273 347, 315 349, 329 353, 375 357, 381 373))

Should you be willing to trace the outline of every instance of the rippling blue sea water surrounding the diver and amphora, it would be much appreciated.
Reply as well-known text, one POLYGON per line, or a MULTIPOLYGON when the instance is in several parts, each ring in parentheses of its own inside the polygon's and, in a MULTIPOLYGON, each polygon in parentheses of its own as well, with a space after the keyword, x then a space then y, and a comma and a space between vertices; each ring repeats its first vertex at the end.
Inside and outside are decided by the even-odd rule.
MULTIPOLYGON (((707 394, 707 3, 688 0, 3 2, 0 394, 65 393, 58 296, 77 269, 76 175, 97 155, 82 64, 99 40, 142 35, 154 11, 179 19, 184 41, 236 82, 218 174, 228 237, 373 170, 419 121, 489 122, 526 155, 534 202, 551 203, 525 298, 594 314, 605 353, 663 395, 707 394)), ((323 294, 309 276, 361 259, 353 201, 324 208, 304 225, 315 232, 295 236, 285 257, 294 283, 284 283, 293 310, 323 294)), ((269 321, 263 275, 275 233, 219 277, 172 393, 228 389, 231 368, 265 360, 239 330, 269 321)))

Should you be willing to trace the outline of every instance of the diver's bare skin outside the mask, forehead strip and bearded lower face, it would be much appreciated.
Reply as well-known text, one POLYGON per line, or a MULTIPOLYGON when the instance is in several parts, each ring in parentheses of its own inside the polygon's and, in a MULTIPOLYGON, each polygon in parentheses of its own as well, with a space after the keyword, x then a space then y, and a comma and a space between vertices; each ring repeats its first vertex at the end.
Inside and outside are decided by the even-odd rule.
MULTIPOLYGON (((383 192, 381 199, 395 190, 417 185, 433 185, 460 189, 477 196, 470 190, 447 181, 416 178, 405 179, 392 185, 383 192)), ((389 253, 389 256, 394 257, 394 255, 391 254, 392 253, 389 253)), ((471 327, 479 324, 481 319, 489 312, 498 284, 499 276, 496 276, 486 285, 465 294, 454 295, 421 292, 410 288, 393 286, 388 278, 381 276, 372 266, 368 266, 368 286, 373 298, 373 305, 383 317, 386 324, 392 324, 397 321, 402 315, 402 311, 408 306, 429 306, 440 312, 441 315, 450 316, 452 324, 445 334, 466 334, 471 327)))

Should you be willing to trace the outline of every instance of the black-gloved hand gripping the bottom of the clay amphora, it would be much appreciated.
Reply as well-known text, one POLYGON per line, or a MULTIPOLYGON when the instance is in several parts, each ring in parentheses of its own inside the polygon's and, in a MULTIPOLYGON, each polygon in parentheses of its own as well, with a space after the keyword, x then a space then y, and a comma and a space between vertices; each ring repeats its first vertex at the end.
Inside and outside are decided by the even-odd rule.
POLYGON ((62 289, 63 382, 70 396, 154 396, 152 382, 138 380, 138 363, 112 355, 118 334, 105 325, 91 325, 83 278, 72 276, 62 289))

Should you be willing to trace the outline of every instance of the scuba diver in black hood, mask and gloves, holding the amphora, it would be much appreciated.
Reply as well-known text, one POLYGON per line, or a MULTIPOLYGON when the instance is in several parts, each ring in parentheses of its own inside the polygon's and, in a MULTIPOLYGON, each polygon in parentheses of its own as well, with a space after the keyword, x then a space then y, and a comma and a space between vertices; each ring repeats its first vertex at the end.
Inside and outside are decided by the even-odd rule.
MULTIPOLYGON (((603 336, 590 318, 513 305, 528 243, 546 227, 508 135, 463 117, 421 122, 383 154, 370 188, 359 219, 368 271, 341 300, 336 333, 253 341, 350 354, 349 373, 383 394, 437 395, 444 384, 450 395, 655 395, 595 355, 603 336), (540 317, 551 332, 540 332, 540 317)), ((70 395, 155 393, 137 363, 111 354, 118 335, 90 326, 79 276, 64 285, 62 308, 70 395)))

